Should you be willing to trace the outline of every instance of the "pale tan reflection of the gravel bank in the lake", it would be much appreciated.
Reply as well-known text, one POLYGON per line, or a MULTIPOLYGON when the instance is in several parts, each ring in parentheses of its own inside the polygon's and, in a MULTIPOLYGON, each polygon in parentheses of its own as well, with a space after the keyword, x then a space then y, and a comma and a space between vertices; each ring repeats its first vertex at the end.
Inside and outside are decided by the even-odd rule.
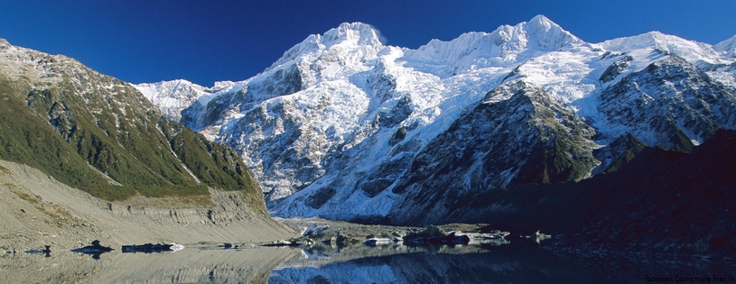
POLYGON ((222 250, 187 247, 179 252, 17 252, 0 256, 3 283, 266 283, 277 265, 300 257, 289 248, 222 250))

